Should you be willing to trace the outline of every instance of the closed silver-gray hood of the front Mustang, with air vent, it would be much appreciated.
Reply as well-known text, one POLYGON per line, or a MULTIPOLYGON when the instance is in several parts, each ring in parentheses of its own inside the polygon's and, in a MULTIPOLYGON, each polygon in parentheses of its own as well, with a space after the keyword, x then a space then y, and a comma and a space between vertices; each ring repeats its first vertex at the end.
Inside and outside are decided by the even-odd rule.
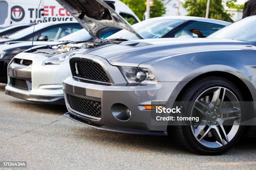
POLYGON ((159 38, 125 41, 115 45, 101 46, 93 51, 79 50, 79 53, 105 58, 111 65, 137 67, 143 62, 166 56, 190 52, 255 49, 247 42, 217 40, 209 38, 159 38))

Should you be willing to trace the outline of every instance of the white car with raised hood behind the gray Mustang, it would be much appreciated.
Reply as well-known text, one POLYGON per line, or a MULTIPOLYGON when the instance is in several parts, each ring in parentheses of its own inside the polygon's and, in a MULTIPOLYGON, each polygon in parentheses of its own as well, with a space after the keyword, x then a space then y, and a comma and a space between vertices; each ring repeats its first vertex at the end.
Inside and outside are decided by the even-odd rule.
POLYGON ((126 43, 133 48, 138 44, 135 41, 144 38, 206 37, 230 24, 220 20, 175 16, 152 18, 131 26, 102 0, 57 1, 94 40, 33 47, 16 55, 8 66, 6 94, 24 100, 64 104, 62 80, 72 76, 69 58, 78 50, 88 53, 127 40, 134 40, 126 43), (113 34, 116 29, 122 30, 113 34))

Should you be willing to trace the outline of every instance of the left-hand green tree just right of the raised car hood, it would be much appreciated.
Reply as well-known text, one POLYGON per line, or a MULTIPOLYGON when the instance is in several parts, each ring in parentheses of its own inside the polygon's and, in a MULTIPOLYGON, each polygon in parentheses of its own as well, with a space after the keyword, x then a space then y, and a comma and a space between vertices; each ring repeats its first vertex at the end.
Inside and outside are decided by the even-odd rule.
MULTIPOLYGON (((140 20, 143 20, 143 15, 146 11, 146 0, 120 0, 131 8, 140 20)), ((166 12, 163 2, 154 0, 154 5, 150 7, 150 18, 161 17, 166 12)))

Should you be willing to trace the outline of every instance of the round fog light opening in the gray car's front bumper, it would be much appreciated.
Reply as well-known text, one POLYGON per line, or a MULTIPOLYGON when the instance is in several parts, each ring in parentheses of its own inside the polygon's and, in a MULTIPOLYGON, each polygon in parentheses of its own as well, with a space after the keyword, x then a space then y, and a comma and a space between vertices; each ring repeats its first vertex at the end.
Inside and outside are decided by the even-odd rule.
POLYGON ((131 110, 121 103, 115 103, 111 107, 111 112, 113 116, 120 121, 127 121, 131 118, 131 110))

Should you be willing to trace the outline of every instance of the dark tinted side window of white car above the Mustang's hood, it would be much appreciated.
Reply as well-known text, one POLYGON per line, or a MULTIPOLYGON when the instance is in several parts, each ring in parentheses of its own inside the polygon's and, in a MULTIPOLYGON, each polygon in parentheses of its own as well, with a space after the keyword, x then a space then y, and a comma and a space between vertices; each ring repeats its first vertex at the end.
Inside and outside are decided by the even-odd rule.
POLYGON ((194 22, 187 25, 185 28, 177 32, 174 37, 181 37, 189 35, 191 37, 204 38, 212 34, 215 31, 220 30, 225 27, 224 25, 212 24, 212 23, 203 23, 203 22, 194 22))

